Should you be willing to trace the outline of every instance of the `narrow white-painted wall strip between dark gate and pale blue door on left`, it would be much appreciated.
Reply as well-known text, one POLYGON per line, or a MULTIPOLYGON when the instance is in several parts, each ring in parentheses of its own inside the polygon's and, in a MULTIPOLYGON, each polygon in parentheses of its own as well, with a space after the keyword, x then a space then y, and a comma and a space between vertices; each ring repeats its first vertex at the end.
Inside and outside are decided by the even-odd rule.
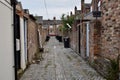
POLYGON ((24 70, 26 68, 25 63, 25 36, 24 36, 24 20, 20 17, 20 44, 21 44, 21 68, 24 70))

